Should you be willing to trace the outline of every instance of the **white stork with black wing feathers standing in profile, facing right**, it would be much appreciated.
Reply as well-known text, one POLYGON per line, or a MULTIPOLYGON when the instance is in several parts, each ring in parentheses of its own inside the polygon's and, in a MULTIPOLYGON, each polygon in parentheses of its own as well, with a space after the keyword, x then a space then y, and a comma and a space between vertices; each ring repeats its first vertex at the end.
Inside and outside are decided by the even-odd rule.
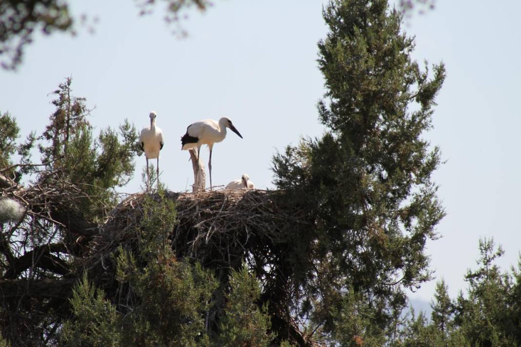
POLYGON ((187 133, 181 137, 181 150, 188 150, 197 147, 197 165, 199 165, 201 146, 208 145, 208 148, 210 149, 210 158, 208 160, 210 189, 212 189, 212 149, 214 148, 215 143, 221 142, 225 139, 227 127, 242 138, 239 131, 233 126, 231 120, 227 117, 222 117, 219 121, 205 119, 200 122, 192 123, 187 127, 187 133))

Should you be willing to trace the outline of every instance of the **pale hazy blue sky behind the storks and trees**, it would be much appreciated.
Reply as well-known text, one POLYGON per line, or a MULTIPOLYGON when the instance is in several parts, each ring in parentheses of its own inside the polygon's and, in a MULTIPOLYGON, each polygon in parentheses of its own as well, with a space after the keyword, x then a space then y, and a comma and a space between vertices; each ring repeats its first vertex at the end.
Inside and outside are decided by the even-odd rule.
MULTIPOLYGON (((161 4, 160 4, 161 5, 161 4)), ((171 33, 157 6, 139 17, 132 1, 76 1, 76 14, 98 17, 95 33, 37 36, 16 72, 0 70, 0 110, 14 115, 23 136, 41 132, 53 111, 53 92, 67 76, 76 96, 95 109, 99 130, 125 118, 138 130, 157 112, 165 134, 162 181, 171 190, 192 182, 189 155, 181 151, 186 127, 204 118, 227 116, 243 135, 228 132, 213 153, 213 183, 225 185, 248 173, 259 188, 273 188, 274 152, 301 136, 318 136, 316 102, 324 93, 317 68, 317 41, 327 29, 320 1, 215 0, 204 15, 183 21, 188 37, 171 33)), ((518 210, 519 81, 521 2, 438 0, 425 15, 404 24, 416 36, 414 57, 443 60, 447 79, 425 134, 446 161, 434 175, 447 216, 443 238, 428 243, 431 267, 450 294, 466 287, 476 268, 479 237, 493 236, 506 254, 503 268, 516 264, 521 248, 518 210)), ((208 151, 202 150, 207 161, 208 151)), ((144 157, 136 160, 126 192, 140 189, 144 157)), ((435 281, 415 300, 430 300, 435 281)))

